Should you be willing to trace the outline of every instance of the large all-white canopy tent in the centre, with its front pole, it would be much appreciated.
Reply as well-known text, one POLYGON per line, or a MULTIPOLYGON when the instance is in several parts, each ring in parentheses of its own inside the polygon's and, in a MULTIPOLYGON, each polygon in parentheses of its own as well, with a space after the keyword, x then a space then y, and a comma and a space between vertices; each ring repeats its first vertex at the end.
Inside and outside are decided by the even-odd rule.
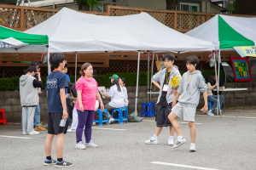
MULTIPOLYGON (((47 35, 49 53, 104 53, 138 51, 212 51, 212 42, 189 37, 154 20, 147 13, 125 16, 84 14, 69 8, 26 33, 47 35)), ((46 48, 20 48, 19 53, 45 52, 46 48)), ((15 51, 14 51, 15 52, 15 51)), ((49 55, 49 54, 48 54, 49 55)), ((137 111, 137 93, 136 108, 137 111)))

